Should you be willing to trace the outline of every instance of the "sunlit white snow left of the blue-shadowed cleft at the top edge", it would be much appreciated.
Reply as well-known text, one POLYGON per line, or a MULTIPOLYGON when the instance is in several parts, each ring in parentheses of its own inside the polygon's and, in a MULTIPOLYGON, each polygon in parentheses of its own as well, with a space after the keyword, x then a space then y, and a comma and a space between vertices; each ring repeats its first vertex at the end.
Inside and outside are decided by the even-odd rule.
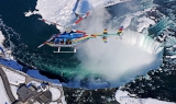
POLYGON ((62 3, 61 0, 37 0, 35 8, 43 19, 66 25, 76 18, 73 12, 75 2, 76 0, 62 0, 62 3))

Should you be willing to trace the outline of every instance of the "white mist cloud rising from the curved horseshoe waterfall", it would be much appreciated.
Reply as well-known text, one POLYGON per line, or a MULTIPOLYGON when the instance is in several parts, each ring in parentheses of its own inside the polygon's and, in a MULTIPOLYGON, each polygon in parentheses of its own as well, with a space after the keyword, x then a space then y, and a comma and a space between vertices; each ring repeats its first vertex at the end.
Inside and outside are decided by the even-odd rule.
MULTIPOLYGON (((84 21, 80 27, 89 33, 100 33, 106 27, 110 33, 116 32, 114 27, 106 24, 110 14, 105 9, 99 9, 98 12, 84 21)), ((105 76, 110 86, 129 82, 136 76, 157 68, 161 62, 160 43, 130 30, 125 30, 123 34, 123 39, 112 36, 108 38, 108 43, 103 43, 101 38, 95 38, 78 46, 76 56, 84 70, 105 76)))

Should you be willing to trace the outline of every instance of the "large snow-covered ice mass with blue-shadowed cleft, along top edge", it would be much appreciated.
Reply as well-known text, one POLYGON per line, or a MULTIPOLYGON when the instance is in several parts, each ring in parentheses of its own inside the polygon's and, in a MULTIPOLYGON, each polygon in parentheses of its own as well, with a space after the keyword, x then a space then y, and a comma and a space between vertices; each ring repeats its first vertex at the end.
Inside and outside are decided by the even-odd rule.
POLYGON ((103 8, 131 0, 37 0, 35 11, 25 12, 25 16, 41 14, 43 19, 68 25, 76 20, 77 14, 84 14, 95 8, 103 8))

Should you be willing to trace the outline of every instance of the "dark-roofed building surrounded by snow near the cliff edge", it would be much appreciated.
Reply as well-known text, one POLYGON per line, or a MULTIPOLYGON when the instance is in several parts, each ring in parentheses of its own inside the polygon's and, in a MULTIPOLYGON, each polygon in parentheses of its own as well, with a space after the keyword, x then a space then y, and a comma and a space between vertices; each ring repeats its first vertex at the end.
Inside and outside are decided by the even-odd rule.
MULTIPOLYGON (((44 86, 45 88, 45 86, 44 86)), ((38 90, 34 84, 22 84, 16 94, 19 100, 14 104, 50 104, 52 102, 52 93, 50 90, 38 90)))

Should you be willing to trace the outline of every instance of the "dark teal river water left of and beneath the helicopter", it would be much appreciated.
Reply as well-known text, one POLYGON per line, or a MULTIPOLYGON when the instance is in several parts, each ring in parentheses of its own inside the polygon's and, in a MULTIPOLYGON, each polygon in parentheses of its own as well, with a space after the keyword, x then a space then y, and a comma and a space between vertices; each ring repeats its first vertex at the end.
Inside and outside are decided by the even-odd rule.
MULTIPOLYGON (((63 67, 76 67, 79 61, 74 57, 74 54, 53 54, 54 48, 47 46, 37 49, 40 44, 46 41, 52 34, 58 33, 59 31, 56 30, 54 25, 47 25, 44 22, 38 21, 37 19, 41 18, 40 15, 32 15, 30 18, 24 16, 24 12, 28 12, 29 10, 33 11, 35 5, 36 0, 1 1, 1 19, 6 25, 12 27, 16 33, 14 34, 14 32, 9 28, 2 27, 6 37, 10 37, 10 41, 6 42, 6 46, 13 49, 13 55, 19 61, 33 67, 37 66, 38 69, 44 71, 48 69, 47 66, 52 65, 56 66, 58 70, 63 67), (6 32, 4 30, 9 31, 6 32)), ((50 69, 47 71, 52 72, 50 69)))

